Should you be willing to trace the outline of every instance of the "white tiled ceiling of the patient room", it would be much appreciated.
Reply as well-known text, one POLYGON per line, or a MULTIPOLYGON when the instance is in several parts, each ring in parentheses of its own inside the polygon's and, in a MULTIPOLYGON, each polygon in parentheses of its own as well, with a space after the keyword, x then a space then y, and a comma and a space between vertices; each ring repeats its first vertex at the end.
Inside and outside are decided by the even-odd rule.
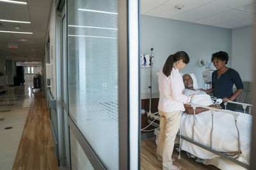
POLYGON ((141 0, 143 15, 227 29, 252 25, 253 8, 253 0, 141 0))

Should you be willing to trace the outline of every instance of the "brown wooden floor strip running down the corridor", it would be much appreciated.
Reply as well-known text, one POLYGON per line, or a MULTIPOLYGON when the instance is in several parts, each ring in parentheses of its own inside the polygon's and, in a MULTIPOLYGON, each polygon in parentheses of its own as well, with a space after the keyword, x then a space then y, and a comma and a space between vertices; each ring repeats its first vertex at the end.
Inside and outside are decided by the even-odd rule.
POLYGON ((58 170, 49 113, 42 92, 35 93, 29 109, 13 170, 58 170))

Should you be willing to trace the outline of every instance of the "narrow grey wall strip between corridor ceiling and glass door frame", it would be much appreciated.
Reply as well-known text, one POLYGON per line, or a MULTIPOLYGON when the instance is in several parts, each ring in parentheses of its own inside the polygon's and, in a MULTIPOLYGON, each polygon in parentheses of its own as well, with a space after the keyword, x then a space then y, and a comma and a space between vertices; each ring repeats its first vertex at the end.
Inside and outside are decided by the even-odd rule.
MULTIPOLYGON (((50 46, 49 46, 49 53, 50 53, 50 63, 52 64, 52 74, 53 80, 51 80, 51 94, 54 99, 56 99, 56 10, 55 10, 55 3, 52 3, 51 15, 49 20, 49 38, 50 38, 50 46)), ((48 39, 47 39, 48 40, 48 39)), ((46 52, 46 50, 45 50, 46 52)))

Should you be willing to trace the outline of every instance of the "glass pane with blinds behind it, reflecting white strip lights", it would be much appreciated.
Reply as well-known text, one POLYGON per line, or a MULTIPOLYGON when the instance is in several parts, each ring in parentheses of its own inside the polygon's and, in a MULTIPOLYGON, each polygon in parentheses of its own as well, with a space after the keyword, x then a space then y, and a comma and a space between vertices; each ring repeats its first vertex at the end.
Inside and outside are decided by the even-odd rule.
POLYGON ((67 5, 70 116, 104 166, 118 169, 117 0, 75 2, 67 5))

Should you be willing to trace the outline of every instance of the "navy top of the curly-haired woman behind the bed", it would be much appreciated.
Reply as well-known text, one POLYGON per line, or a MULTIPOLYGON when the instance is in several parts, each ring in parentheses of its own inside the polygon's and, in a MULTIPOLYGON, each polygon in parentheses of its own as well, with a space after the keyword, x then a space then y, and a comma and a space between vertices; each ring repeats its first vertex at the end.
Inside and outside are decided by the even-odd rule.
POLYGON ((236 85, 236 89, 244 89, 241 77, 236 70, 229 68, 225 73, 221 74, 220 78, 218 78, 217 70, 212 73, 212 88, 214 97, 221 99, 224 97, 231 97, 234 94, 234 84, 236 85))

